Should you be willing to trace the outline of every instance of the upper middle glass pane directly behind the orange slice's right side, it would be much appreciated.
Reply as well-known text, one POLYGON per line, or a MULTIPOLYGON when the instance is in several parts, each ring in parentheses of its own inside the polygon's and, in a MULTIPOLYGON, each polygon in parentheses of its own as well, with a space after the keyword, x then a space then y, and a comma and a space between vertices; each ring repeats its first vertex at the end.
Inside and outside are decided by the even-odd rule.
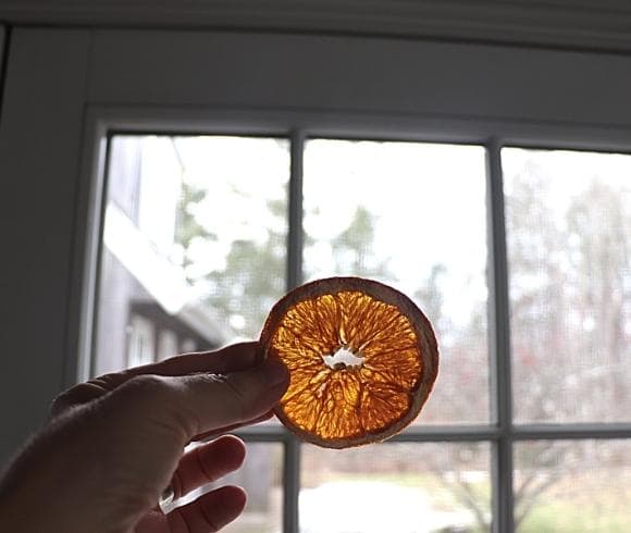
POLYGON ((307 278, 372 277, 411 297, 442 358, 418 423, 486 422, 483 148, 314 139, 304 179, 307 278))

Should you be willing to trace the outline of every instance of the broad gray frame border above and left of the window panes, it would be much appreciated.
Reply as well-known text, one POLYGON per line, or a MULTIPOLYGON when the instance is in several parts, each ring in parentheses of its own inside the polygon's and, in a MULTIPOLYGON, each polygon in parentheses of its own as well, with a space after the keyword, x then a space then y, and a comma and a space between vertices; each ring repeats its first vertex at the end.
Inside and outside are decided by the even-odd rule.
POLYGON ((109 131, 631 146, 624 54, 63 26, 14 27, 10 51, 0 123, 0 461, 84 375, 109 131))

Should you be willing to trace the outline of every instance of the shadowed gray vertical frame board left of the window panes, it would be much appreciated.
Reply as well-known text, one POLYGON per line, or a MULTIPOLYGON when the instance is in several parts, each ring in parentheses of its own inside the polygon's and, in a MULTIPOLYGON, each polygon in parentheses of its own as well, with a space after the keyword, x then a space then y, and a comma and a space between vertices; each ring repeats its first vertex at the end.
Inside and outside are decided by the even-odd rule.
POLYGON ((13 29, 0 123, 0 462, 64 383, 87 35, 13 29))

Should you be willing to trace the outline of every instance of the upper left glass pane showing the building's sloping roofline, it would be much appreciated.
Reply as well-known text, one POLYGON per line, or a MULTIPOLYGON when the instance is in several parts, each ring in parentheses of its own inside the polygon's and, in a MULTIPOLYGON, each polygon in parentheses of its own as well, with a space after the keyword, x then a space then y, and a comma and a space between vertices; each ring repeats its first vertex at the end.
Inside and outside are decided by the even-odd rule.
POLYGON ((285 292, 287 140, 110 142, 95 373, 258 337, 285 292))

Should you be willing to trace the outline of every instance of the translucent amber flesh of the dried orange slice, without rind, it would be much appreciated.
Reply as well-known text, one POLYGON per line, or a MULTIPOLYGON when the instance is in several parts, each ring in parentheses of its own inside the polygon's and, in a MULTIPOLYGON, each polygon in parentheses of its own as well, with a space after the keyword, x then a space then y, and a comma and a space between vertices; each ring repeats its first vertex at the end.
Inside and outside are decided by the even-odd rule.
POLYGON ((421 354, 410 321, 395 307, 359 292, 305 300, 290 308, 271 343, 292 381, 285 416, 323 439, 378 433, 410 409, 421 354), (332 369, 323 356, 346 348, 361 365, 332 369))

